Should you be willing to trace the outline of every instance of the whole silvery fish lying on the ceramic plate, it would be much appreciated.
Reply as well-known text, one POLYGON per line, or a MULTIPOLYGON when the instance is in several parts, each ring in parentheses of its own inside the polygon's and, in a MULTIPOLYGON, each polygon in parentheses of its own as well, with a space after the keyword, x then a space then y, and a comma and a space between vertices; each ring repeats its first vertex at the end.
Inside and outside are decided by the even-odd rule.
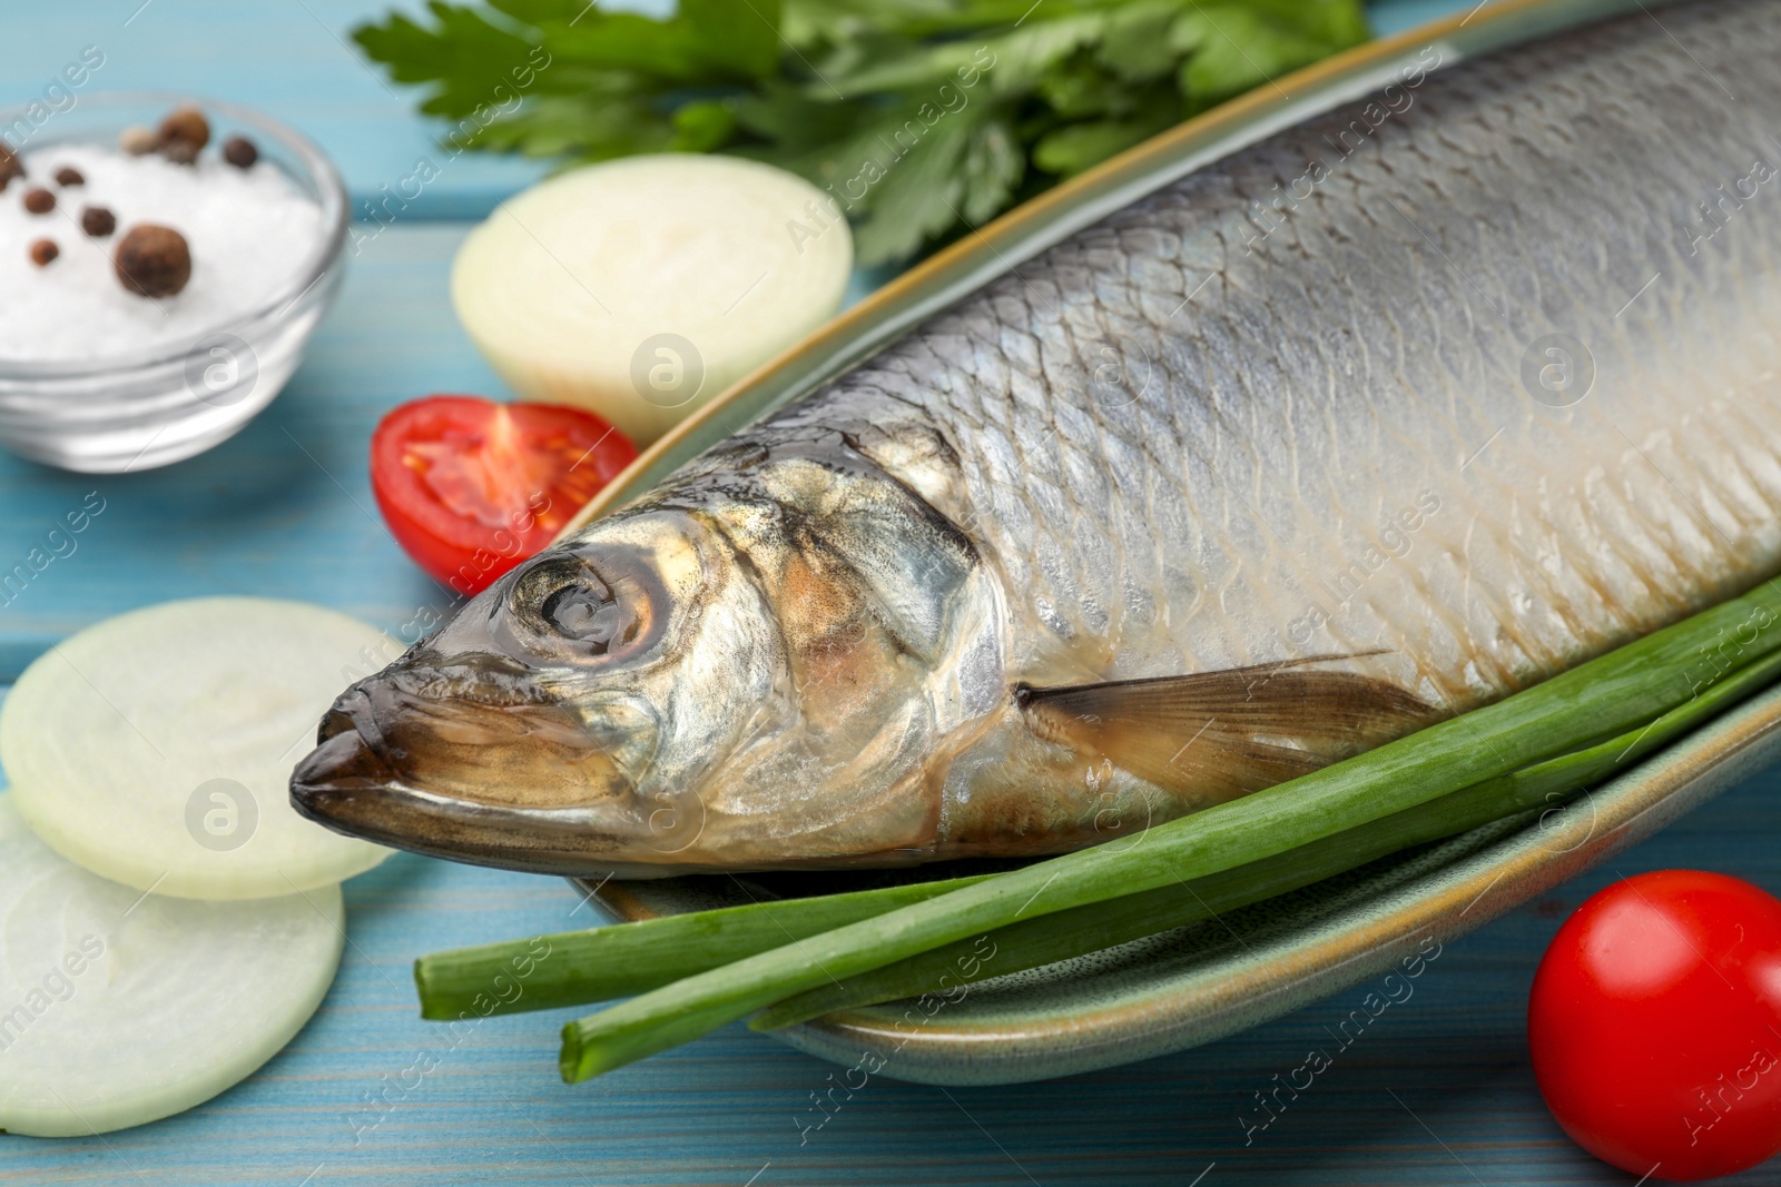
POLYGON ((1159 187, 516 568, 294 803, 566 874, 1058 852, 1749 587, 1776 16, 1432 43, 1159 187))

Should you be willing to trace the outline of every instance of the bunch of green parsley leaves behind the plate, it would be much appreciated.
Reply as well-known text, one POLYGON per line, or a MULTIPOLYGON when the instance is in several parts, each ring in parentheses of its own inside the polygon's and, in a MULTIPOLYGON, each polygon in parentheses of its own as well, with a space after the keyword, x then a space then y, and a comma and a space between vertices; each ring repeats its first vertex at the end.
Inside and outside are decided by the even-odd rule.
POLYGON ((1366 36, 1361 0, 429 0, 353 32, 459 146, 764 160, 835 199, 867 267, 1366 36))

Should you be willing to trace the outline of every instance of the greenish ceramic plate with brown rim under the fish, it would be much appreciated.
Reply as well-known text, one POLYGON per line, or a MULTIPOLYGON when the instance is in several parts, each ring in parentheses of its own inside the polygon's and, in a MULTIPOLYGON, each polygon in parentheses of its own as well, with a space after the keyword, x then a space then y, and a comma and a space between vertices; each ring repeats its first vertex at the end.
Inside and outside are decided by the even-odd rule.
MULTIPOLYGON (((1309 116, 1362 98, 1430 44, 1443 62, 1503 50, 1639 0, 1505 0, 1282 78, 1047 192, 898 278, 773 359, 650 448, 582 520, 622 505, 744 424, 798 399, 919 320, 1133 199, 1309 116)), ((573 527, 573 525, 572 525, 573 527)), ((1227 1036, 1380 975, 1644 840, 1781 758, 1781 690, 1655 755, 1573 808, 1375 861, 1291 895, 1047 968, 988 979, 956 1002, 830 1014, 778 1038, 930 1084, 1038 1080, 1227 1036)), ((618 918, 753 897, 851 890, 915 874, 784 874, 607 883, 618 918)))

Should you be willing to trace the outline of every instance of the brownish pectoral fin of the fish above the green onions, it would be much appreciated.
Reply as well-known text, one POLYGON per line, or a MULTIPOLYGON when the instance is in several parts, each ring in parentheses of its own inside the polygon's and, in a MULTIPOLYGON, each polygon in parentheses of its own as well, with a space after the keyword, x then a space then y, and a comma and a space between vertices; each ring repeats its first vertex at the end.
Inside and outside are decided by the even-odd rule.
POLYGON ((1302 660, 1035 689, 1015 701, 1028 728, 1165 790, 1224 801, 1316 771, 1409 733, 1434 708, 1386 680, 1302 660))

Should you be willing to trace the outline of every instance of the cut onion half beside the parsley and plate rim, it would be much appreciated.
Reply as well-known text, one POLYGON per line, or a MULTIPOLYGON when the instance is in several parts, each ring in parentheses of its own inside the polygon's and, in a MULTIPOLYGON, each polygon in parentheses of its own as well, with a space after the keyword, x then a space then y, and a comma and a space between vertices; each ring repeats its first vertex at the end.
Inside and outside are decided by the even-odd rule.
POLYGON ((451 294, 522 399, 590 408, 643 447, 823 324, 851 265, 839 205, 803 178, 670 153, 508 199, 463 240, 451 294))

